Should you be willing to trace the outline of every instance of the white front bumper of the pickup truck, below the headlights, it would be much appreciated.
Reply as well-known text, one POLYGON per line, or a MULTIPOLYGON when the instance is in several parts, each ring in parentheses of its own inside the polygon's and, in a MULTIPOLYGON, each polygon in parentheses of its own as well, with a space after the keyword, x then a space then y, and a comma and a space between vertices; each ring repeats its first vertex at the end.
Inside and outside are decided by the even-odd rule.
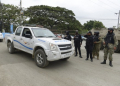
POLYGON ((74 54, 74 48, 70 50, 65 50, 65 51, 46 50, 46 54, 47 54, 48 61, 56 61, 59 59, 64 59, 64 58, 72 56, 74 54))

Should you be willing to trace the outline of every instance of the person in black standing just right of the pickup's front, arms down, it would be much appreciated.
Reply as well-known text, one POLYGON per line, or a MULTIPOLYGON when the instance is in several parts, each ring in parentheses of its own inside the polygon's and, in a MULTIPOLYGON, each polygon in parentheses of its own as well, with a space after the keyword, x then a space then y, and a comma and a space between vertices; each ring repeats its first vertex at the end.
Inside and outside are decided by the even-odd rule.
POLYGON ((78 49, 79 57, 82 58, 81 50, 80 50, 80 47, 82 45, 82 37, 80 34, 78 34, 78 31, 76 31, 76 34, 74 36, 74 45, 75 45, 75 56, 77 56, 77 49, 78 49))

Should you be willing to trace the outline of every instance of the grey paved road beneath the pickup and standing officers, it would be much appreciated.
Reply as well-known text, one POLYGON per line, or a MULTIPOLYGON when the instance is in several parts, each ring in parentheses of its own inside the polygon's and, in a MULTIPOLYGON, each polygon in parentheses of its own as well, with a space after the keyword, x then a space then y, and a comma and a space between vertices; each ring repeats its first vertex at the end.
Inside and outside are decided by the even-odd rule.
MULTIPOLYGON (((84 42, 83 42, 84 44, 84 42)), ((114 67, 101 65, 100 60, 85 61, 72 56, 67 62, 51 62, 47 68, 35 65, 32 56, 24 52, 9 54, 0 42, 0 86, 120 86, 120 54, 114 54, 114 67)))

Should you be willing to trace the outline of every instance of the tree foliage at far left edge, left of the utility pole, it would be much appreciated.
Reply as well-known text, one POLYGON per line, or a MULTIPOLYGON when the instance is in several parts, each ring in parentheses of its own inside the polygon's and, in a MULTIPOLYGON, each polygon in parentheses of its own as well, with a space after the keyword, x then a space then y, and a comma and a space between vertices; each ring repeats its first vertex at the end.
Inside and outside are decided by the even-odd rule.
POLYGON ((2 13, 0 13, 0 19, 3 22, 3 28, 6 31, 10 29, 10 23, 16 25, 19 21, 19 8, 10 4, 3 4, 2 13))

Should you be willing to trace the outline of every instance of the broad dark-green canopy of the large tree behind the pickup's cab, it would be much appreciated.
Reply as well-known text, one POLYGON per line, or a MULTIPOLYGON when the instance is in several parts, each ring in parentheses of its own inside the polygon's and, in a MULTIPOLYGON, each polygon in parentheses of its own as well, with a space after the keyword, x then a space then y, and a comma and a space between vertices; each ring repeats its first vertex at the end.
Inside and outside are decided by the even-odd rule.
POLYGON ((30 18, 29 23, 36 23, 50 29, 80 30, 81 24, 75 14, 66 8, 50 6, 31 6, 25 12, 30 18))

